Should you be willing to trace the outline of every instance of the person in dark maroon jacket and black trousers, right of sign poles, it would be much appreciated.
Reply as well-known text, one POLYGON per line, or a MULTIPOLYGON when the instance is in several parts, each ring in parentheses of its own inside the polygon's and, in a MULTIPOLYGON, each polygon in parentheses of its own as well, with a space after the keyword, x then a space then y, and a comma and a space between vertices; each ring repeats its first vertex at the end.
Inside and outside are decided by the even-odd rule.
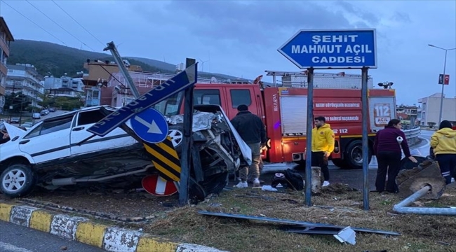
POLYGON ((405 158, 412 162, 417 162, 410 154, 407 139, 401 130, 401 120, 392 119, 383 130, 379 130, 375 135, 374 153, 377 156, 377 178, 375 179, 375 188, 378 192, 385 190, 385 181, 388 174, 387 191, 389 193, 397 193, 398 186, 396 185, 396 176, 401 169, 402 151, 405 158), (402 139, 402 141, 401 141, 402 139))

